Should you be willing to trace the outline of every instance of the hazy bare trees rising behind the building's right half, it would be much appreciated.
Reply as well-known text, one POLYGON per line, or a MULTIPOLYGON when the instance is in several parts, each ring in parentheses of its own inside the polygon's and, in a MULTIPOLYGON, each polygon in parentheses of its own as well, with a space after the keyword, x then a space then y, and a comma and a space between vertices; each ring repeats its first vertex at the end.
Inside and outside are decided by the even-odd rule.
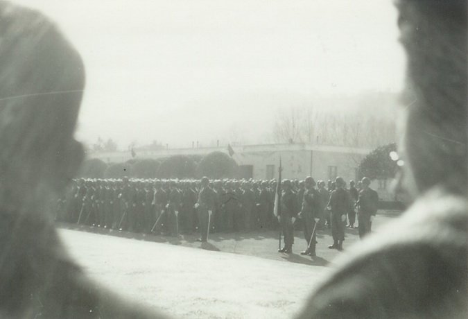
POLYGON ((357 103, 357 106, 339 110, 325 110, 322 107, 322 111, 319 111, 318 107, 311 106, 281 110, 277 114, 272 137, 277 143, 362 148, 376 148, 395 142, 392 98, 377 94, 365 96, 357 103))

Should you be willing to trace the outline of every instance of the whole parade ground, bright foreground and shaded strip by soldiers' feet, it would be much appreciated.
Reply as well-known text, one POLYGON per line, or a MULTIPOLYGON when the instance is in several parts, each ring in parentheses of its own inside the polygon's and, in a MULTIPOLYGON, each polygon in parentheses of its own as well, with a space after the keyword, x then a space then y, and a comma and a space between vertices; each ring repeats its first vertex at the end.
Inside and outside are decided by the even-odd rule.
MULTIPOLYGON (((396 214, 378 214, 379 231, 396 214)), ((59 224, 71 255, 92 277, 130 298, 182 318, 286 318, 298 311, 333 259, 358 241, 347 229, 345 252, 329 250, 328 229, 318 232, 317 257, 277 252, 278 233, 196 234, 180 239, 59 224), (112 236, 115 235, 115 236, 112 236)))

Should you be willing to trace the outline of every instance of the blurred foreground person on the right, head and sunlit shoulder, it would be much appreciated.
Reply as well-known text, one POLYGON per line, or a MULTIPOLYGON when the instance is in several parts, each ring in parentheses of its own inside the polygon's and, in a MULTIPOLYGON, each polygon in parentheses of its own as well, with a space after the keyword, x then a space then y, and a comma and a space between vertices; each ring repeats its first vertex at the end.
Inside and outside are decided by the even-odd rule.
POLYGON ((468 318, 467 1, 401 0, 398 189, 411 206, 337 261, 298 318, 468 318))

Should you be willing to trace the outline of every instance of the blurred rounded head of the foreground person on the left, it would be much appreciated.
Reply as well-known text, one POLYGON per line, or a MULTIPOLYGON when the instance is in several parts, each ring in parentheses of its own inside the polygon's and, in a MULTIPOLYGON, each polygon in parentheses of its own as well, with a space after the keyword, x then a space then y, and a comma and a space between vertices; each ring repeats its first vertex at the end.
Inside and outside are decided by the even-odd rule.
POLYGON ((80 55, 38 12, 1 1, 0 37, 0 196, 37 205, 83 160, 73 132, 85 71, 80 55))

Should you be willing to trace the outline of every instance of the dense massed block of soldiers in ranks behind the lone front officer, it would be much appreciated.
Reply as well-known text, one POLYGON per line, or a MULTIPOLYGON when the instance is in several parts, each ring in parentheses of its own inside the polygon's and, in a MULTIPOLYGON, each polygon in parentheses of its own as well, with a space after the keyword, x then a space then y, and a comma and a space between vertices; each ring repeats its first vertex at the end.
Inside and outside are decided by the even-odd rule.
MULTIPOLYGON (((73 180, 71 189, 58 200, 57 220, 84 225, 127 230, 130 232, 163 233, 177 236, 191 234, 200 225, 197 203, 200 191, 209 189, 207 196, 209 227, 207 232, 239 232, 277 229, 273 215, 276 180, 73 180)), ((335 182, 319 181, 318 207, 327 206, 335 182)), ((359 188, 359 183, 358 183, 359 188)), ((292 180, 297 207, 302 207, 304 181, 292 180)), ((349 193, 357 200, 358 189, 350 183, 349 193)), ((349 212, 349 226, 354 226, 354 209, 349 212)), ((324 214, 318 227, 330 226, 329 215, 324 214)), ((300 226, 299 226, 300 227, 300 226)), ((202 240, 206 240, 202 236, 202 240)))

